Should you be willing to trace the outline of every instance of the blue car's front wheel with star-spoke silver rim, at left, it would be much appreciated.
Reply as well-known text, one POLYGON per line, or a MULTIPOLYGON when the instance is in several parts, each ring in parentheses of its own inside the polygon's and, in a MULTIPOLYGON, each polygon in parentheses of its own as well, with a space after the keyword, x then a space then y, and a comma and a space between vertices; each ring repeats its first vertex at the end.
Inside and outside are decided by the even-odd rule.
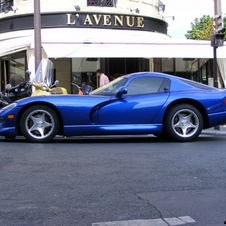
POLYGON ((31 142, 45 143, 59 131, 59 119, 54 110, 44 105, 28 108, 21 117, 21 132, 31 142))

